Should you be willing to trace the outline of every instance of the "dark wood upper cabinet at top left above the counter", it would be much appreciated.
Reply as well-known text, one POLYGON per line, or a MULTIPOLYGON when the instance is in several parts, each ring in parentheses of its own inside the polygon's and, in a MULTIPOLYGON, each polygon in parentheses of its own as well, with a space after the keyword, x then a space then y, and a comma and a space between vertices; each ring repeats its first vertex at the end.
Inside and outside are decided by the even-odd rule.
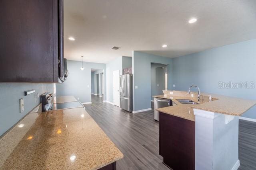
POLYGON ((59 61, 63 0, 0 0, 0 82, 59 82, 59 61))

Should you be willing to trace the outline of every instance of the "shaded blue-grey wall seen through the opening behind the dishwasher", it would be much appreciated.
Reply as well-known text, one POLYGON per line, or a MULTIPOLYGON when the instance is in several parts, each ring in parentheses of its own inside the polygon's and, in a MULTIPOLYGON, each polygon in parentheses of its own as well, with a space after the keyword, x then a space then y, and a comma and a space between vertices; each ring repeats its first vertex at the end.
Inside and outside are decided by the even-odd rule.
POLYGON ((161 80, 165 76, 167 72, 167 66, 163 64, 151 64, 151 100, 154 100, 152 96, 163 94, 162 90, 165 90, 165 79, 161 80), (159 72, 156 72, 156 68, 165 67, 162 74, 158 74, 159 72), (157 86, 159 84, 159 86, 157 86))

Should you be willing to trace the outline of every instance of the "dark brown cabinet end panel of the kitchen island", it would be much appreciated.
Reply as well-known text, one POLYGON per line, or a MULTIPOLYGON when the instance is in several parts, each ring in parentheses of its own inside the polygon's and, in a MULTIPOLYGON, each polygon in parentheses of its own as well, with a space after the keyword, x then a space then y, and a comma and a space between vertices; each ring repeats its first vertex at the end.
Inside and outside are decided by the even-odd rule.
POLYGON ((173 170, 194 170, 195 122, 159 112, 159 152, 173 170))

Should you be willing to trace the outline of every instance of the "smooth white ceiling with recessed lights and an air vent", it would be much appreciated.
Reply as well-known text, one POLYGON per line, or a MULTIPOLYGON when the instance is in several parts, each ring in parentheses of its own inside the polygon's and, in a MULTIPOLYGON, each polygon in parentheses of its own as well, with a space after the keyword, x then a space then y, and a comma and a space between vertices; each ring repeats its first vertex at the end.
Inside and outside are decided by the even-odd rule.
POLYGON ((256 0, 64 0, 70 60, 108 63, 133 50, 179 57, 255 38, 256 0))

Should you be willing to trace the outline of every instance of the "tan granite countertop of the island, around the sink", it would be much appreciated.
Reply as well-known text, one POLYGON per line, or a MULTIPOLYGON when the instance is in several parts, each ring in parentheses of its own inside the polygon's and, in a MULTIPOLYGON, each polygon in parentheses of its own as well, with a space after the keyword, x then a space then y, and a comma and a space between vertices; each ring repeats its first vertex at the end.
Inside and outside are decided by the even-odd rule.
POLYGON ((193 109, 201 109, 211 111, 215 113, 222 113, 227 115, 241 116, 244 112, 250 109, 256 104, 255 100, 244 100, 241 98, 233 98, 229 96, 222 96, 210 93, 201 93, 200 104, 181 104, 176 99, 190 99, 197 102, 197 93, 192 92, 191 95, 186 94, 187 92, 182 91, 165 91, 164 95, 153 96, 157 98, 171 99, 176 106, 169 106, 157 109, 163 113, 168 113, 184 119, 195 121, 195 115, 193 109), (172 92, 173 94, 170 94, 172 92), (209 102, 209 96, 212 97, 212 102, 209 102))

